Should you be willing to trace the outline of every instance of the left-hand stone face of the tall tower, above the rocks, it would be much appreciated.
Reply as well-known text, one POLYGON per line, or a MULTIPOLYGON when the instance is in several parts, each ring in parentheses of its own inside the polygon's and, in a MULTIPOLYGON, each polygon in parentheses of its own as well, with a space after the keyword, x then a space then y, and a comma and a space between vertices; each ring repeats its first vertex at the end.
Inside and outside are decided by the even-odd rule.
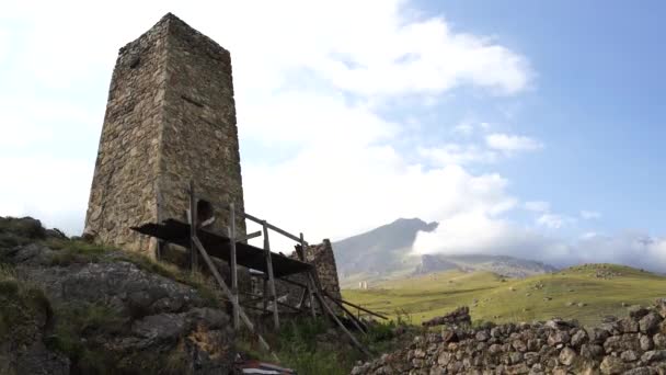
POLYGON ((97 241, 133 250, 149 240, 129 227, 157 219, 166 26, 160 21, 118 54, 85 217, 97 241))

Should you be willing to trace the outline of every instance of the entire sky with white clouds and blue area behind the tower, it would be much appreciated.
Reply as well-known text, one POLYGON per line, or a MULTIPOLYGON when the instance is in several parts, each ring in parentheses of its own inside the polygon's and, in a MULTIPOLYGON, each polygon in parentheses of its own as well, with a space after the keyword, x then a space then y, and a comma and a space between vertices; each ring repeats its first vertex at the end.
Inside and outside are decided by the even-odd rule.
POLYGON ((663 8, 3 2, 0 215, 81 231, 117 49, 171 11, 231 52, 249 212, 332 239, 421 217, 441 225, 415 252, 666 271, 663 8))

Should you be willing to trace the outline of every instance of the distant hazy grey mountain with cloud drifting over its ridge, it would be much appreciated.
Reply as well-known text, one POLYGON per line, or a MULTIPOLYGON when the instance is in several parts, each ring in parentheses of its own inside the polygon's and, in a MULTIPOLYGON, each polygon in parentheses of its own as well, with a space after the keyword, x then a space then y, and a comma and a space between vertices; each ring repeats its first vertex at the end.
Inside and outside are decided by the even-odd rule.
POLYGON ((370 231, 333 242, 343 286, 358 281, 382 281, 432 272, 486 271, 507 277, 526 277, 555 271, 540 262, 506 255, 445 255, 412 252, 420 231, 432 232, 438 223, 400 218, 370 231))

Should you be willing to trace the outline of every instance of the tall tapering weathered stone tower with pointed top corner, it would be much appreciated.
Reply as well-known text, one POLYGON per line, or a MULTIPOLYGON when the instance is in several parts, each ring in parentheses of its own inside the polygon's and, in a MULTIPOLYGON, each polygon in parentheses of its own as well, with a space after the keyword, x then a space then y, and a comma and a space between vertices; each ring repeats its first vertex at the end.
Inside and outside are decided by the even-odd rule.
MULTIPOLYGON (((169 13, 119 50, 85 232, 152 254, 154 243, 129 228, 186 220, 191 179, 197 194, 243 211, 229 52, 169 13)), ((229 214, 218 209, 199 207, 215 215, 219 228, 229 214)), ((237 217, 244 234, 244 220, 237 217)))

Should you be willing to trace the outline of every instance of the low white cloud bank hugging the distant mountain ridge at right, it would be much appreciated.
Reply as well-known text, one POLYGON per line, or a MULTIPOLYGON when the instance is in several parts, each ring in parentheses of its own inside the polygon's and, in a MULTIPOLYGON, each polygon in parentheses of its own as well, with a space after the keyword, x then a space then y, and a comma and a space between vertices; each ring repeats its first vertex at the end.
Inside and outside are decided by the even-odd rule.
POLYGON ((581 263, 619 263, 655 272, 666 270, 666 239, 641 232, 605 236, 586 232, 569 242, 480 213, 443 221, 434 232, 420 232, 417 253, 509 254, 564 268, 581 263))

